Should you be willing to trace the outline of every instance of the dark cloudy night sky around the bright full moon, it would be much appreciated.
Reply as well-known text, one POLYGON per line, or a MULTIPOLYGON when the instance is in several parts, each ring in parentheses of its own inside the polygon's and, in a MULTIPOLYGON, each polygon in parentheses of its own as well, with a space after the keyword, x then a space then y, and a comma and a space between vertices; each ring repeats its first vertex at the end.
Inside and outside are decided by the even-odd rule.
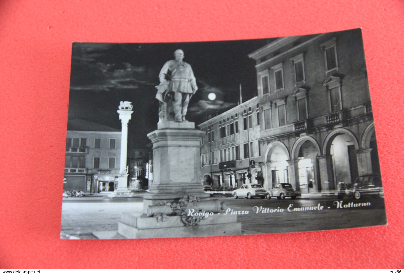
POLYGON ((120 101, 133 104, 128 123, 129 148, 145 148, 147 133, 157 129, 158 74, 174 51, 194 71, 198 91, 191 98, 187 120, 196 125, 208 114, 221 114, 237 105, 242 85, 243 102, 257 95, 255 60, 249 53, 274 39, 221 42, 112 44, 74 43, 70 79, 69 120, 81 118, 121 128, 120 101), (209 93, 216 99, 210 101, 209 93))

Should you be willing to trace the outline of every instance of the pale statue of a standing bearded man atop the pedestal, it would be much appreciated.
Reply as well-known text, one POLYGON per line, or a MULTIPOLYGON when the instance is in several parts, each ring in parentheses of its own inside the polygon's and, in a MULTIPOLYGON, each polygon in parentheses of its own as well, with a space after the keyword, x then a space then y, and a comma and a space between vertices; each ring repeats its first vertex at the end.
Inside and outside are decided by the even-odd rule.
POLYGON ((198 86, 191 65, 183 61, 184 52, 177 49, 174 57, 175 60, 166 62, 160 70, 158 75, 160 85, 157 86, 156 98, 163 102, 162 93, 173 92, 175 122, 187 122, 185 115, 187 115, 189 99, 196 93, 198 86))

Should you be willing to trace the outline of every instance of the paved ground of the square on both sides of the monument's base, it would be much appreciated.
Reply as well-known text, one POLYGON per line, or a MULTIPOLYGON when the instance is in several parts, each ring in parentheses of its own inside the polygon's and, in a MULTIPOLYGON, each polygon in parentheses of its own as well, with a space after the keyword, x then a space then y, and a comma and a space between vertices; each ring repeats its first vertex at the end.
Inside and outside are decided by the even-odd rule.
MULTIPOLYGON (((219 198, 233 211, 249 211, 248 215, 238 215, 242 223, 242 234, 282 233, 312 230, 330 230, 377 226, 386 223, 383 199, 343 200, 349 202, 369 202, 360 208, 336 209, 334 199, 309 198, 285 200, 219 198), (289 204, 294 207, 314 207, 324 205, 322 211, 288 212, 289 204), (255 213, 254 206, 268 209, 284 209, 284 212, 255 213)), ((116 234, 122 213, 143 211, 142 198, 88 198, 85 200, 63 200, 61 238, 96 238, 93 232, 103 232, 103 238, 116 234)), ((223 213, 222 213, 223 214, 223 213)))

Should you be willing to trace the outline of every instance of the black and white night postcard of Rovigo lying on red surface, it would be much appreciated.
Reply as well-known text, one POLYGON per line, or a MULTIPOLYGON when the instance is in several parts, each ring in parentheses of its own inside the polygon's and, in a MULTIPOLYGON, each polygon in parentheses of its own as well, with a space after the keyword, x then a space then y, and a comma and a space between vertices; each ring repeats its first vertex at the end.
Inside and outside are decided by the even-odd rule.
POLYGON ((61 238, 387 224, 361 29, 72 44, 61 238))

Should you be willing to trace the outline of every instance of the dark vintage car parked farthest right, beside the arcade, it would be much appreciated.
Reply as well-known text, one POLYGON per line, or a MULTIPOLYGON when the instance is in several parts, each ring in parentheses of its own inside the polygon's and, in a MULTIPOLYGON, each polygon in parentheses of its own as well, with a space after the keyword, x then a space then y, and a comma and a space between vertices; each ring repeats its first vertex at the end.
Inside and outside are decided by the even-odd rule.
POLYGON ((359 176, 352 185, 351 193, 355 199, 360 199, 362 196, 378 196, 384 198, 381 177, 374 174, 359 176))

